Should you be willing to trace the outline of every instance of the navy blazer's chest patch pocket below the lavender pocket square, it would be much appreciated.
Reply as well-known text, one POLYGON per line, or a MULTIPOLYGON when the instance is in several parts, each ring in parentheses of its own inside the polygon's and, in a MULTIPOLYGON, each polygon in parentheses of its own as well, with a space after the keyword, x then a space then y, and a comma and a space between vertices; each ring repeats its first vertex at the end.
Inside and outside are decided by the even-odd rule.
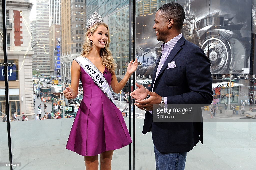
POLYGON ((174 67, 165 69, 164 78, 165 84, 170 87, 177 87, 182 82, 182 70, 181 67, 174 67))

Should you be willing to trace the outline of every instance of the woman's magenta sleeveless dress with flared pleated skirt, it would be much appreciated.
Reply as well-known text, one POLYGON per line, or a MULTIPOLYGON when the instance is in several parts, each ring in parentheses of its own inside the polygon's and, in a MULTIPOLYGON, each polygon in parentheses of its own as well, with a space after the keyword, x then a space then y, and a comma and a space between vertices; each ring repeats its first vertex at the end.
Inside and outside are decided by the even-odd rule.
MULTIPOLYGON (((103 75, 110 85, 111 73, 106 68, 105 72, 103 75)), ((80 79, 84 96, 66 148, 79 155, 94 156, 132 143, 121 111, 82 67, 80 79)))

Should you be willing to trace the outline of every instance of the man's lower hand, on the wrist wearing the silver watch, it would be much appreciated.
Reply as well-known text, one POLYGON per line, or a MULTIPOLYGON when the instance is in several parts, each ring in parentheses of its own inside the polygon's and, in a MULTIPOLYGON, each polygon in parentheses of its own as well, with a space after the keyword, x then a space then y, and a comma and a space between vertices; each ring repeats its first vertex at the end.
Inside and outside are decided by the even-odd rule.
POLYGON ((153 110, 153 105, 154 104, 159 105, 162 101, 162 97, 159 96, 158 94, 154 93, 154 92, 149 91, 149 90, 146 90, 146 92, 151 97, 148 98, 147 100, 135 100, 134 105, 136 105, 141 110, 152 111, 153 110))

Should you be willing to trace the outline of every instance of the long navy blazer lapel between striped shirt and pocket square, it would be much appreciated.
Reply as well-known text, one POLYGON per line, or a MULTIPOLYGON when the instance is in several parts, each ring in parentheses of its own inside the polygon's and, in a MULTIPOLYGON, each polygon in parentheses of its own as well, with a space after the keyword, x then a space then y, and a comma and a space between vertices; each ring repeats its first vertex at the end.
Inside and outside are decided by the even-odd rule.
MULTIPOLYGON (((168 66, 168 64, 173 60, 173 58, 176 56, 176 54, 179 52, 181 46, 184 44, 185 42, 185 38, 181 37, 179 39, 179 41, 175 44, 175 46, 173 47, 172 51, 170 52, 169 56, 167 57, 167 59, 164 62, 163 67, 161 68, 161 70, 159 71, 159 74, 157 77, 159 77, 162 72, 166 69, 166 67, 168 66)), ((160 57, 159 57, 160 58, 160 57)), ((154 73, 155 74, 155 73, 154 73)))

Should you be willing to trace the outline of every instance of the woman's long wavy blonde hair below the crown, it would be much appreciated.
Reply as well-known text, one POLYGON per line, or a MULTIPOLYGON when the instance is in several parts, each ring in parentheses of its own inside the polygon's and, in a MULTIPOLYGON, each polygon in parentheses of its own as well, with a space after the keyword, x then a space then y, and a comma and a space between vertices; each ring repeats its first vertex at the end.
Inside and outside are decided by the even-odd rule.
POLYGON ((115 71, 116 69, 116 63, 115 60, 113 58, 112 52, 109 50, 109 44, 110 44, 110 33, 109 33, 109 27, 108 25, 106 25, 104 22, 98 22, 96 24, 94 24, 91 28, 89 28, 89 30, 87 30, 85 36, 84 36, 84 43, 83 43, 83 51, 81 52, 81 56, 82 57, 87 57, 89 55, 89 52, 92 50, 91 45, 91 40, 88 37, 88 33, 91 33, 92 35, 94 34, 94 32, 100 27, 100 26, 104 26, 108 29, 108 42, 105 45, 104 48, 101 48, 100 50, 100 56, 102 58, 102 64, 104 66, 106 66, 106 68, 112 73, 115 71))

